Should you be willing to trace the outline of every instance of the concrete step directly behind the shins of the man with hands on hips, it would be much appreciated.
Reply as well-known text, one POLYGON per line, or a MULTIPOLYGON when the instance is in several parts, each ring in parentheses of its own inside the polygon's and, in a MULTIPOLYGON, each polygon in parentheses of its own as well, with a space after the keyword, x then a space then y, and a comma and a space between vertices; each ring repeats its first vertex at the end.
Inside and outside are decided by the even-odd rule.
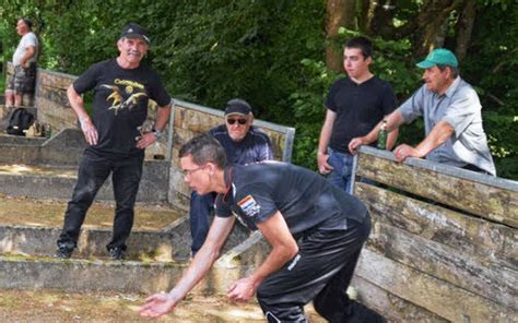
MULTIPOLYGON (((0 195, 0 253, 51 256, 61 232, 64 201, 0 195)), ((86 214, 74 258, 106 256, 111 238, 114 205, 94 203, 86 214)), ((249 236, 236 226, 225 250, 249 236)), ((190 227, 187 214, 168 205, 136 206, 126 256, 133 260, 184 261, 190 258, 190 227)))

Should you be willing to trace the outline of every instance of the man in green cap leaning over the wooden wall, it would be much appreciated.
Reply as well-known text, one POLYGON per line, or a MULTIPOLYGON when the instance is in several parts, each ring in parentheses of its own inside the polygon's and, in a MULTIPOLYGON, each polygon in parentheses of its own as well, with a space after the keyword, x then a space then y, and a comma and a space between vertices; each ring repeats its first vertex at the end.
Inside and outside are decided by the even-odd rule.
MULTIPOLYGON (((425 139, 416 146, 401 144, 393 154, 399 162, 408 157, 426 159, 482 174, 496 175, 482 128, 482 106, 473 87, 459 76, 455 55, 444 48, 433 50, 424 61, 421 86, 387 119, 387 130, 410 123, 423 116, 425 139)), ((380 123, 367 135, 351 141, 350 149, 377 139, 380 123)))

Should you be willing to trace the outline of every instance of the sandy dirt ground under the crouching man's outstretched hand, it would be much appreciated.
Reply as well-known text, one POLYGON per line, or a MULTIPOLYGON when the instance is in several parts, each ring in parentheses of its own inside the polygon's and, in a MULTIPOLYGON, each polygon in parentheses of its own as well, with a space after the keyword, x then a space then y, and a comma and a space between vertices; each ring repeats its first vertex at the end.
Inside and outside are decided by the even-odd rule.
MULTIPOLYGON (((122 294, 70 294, 52 290, 0 291, 1 322, 264 322, 255 302, 231 303, 223 297, 195 296, 160 320, 142 319, 138 309, 146 296, 122 294)), ((325 321, 308 308, 311 322, 325 321)))

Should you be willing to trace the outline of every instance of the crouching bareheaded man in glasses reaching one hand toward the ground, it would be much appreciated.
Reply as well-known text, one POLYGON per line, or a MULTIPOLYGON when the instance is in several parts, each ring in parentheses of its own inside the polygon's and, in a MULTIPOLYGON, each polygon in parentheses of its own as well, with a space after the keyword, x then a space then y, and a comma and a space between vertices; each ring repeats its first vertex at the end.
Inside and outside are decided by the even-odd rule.
POLYGON ((291 164, 225 167, 225 152, 210 135, 189 141, 179 157, 195 191, 217 193, 215 217, 184 276, 168 294, 149 297, 142 316, 172 311, 204 277, 237 217, 259 229, 272 250, 254 274, 231 286, 231 300, 248 301, 257 292, 268 322, 306 322, 303 307, 311 300, 330 322, 384 322, 345 294, 370 231, 362 202, 291 164))

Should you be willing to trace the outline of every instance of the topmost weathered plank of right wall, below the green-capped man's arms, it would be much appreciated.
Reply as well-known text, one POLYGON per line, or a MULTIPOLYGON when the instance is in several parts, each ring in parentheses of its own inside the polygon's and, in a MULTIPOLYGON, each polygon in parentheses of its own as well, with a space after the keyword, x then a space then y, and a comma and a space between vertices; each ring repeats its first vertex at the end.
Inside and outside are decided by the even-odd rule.
POLYGON ((356 175, 518 228, 518 191, 360 154, 356 175))

